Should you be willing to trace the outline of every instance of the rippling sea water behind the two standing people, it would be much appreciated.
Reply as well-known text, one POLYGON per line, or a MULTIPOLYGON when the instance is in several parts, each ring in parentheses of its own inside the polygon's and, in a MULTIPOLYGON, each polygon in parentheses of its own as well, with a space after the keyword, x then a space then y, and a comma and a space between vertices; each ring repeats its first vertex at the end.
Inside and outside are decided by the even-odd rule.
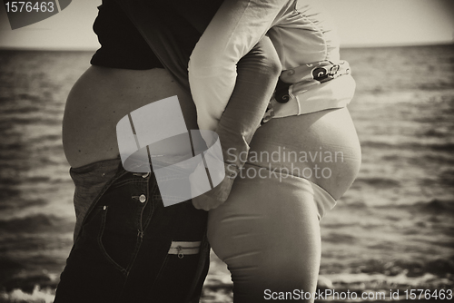
MULTIPOLYGON (((50 301, 71 249, 74 185, 61 125, 66 96, 91 55, 0 51, 5 301, 50 301)), ((391 288, 453 288, 454 46, 342 49, 341 57, 357 83, 349 109, 362 166, 321 220, 321 284, 388 295, 391 288)), ((212 259, 204 302, 228 302, 231 289, 212 259)))

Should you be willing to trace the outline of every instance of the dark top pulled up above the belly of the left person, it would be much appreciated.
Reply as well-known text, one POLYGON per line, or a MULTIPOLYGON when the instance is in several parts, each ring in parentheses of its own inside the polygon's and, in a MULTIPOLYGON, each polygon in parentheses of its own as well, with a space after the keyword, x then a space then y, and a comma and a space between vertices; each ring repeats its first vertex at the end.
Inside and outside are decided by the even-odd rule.
POLYGON ((133 70, 165 67, 189 89, 189 57, 221 4, 222 0, 103 0, 93 26, 101 48, 91 64, 133 70))

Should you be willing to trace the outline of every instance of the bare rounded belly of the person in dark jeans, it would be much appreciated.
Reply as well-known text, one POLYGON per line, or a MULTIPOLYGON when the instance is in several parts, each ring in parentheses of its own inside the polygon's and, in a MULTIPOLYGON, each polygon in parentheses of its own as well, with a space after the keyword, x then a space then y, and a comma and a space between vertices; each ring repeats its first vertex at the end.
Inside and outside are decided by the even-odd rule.
MULTIPOLYGON (((74 84, 64 109, 63 143, 72 167, 118 157, 116 124, 143 105, 177 95, 188 129, 196 129, 190 96, 163 69, 119 70, 91 66, 74 84)), ((162 153, 172 154, 172 146, 162 153)))

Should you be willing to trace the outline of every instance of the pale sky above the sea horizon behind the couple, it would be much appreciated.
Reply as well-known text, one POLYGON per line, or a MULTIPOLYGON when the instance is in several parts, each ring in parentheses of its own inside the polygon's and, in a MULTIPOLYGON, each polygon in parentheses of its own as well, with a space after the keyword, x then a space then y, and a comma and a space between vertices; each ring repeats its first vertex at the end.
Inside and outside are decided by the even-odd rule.
MULTIPOLYGON (((454 43, 454 0, 320 0, 341 46, 454 43)), ((94 50, 92 25, 101 0, 73 0, 59 14, 12 30, 0 5, 0 48, 94 50)))

